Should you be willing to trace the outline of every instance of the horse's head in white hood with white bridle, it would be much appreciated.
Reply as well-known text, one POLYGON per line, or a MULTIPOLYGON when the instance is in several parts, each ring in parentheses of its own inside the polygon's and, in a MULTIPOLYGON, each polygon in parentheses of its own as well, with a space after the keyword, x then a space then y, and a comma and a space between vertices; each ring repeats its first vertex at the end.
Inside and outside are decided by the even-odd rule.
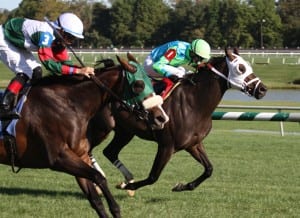
POLYGON ((240 89, 244 93, 261 99, 267 92, 267 87, 255 76, 251 65, 239 56, 238 50, 231 52, 225 49, 228 66, 228 82, 232 87, 240 89))

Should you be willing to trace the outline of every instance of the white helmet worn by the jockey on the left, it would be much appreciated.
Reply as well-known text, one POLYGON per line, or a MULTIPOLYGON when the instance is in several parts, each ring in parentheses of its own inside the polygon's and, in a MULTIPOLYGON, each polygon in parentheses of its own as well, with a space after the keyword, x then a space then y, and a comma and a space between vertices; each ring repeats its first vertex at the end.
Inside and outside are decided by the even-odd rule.
POLYGON ((57 29, 63 29, 65 32, 83 39, 83 23, 73 13, 63 13, 59 15, 57 20, 53 23, 55 28, 57 29))

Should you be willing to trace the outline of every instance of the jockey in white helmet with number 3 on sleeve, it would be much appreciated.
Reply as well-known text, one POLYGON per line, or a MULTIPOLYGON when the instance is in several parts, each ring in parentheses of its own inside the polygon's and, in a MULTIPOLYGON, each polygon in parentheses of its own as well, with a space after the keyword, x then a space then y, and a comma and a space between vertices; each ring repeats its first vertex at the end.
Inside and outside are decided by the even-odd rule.
POLYGON ((0 25, 0 59, 16 76, 10 81, 0 102, 0 119, 18 119, 13 112, 17 95, 25 83, 42 77, 41 64, 54 74, 94 74, 92 67, 78 67, 69 60, 66 46, 83 39, 82 21, 73 13, 61 14, 51 23, 12 18, 0 25))

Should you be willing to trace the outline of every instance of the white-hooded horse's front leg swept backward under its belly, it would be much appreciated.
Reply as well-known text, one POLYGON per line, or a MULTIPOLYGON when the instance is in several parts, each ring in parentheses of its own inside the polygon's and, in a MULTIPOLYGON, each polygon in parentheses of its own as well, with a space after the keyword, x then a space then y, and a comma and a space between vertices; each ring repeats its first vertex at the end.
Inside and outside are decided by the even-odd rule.
POLYGON ((140 187, 155 183, 158 180, 162 170, 164 169, 168 161, 171 159, 172 154, 173 154, 172 146, 158 145, 158 150, 155 156, 155 160, 152 165, 150 174, 148 175, 148 178, 137 182, 128 183, 125 186, 125 189, 136 190, 140 187))

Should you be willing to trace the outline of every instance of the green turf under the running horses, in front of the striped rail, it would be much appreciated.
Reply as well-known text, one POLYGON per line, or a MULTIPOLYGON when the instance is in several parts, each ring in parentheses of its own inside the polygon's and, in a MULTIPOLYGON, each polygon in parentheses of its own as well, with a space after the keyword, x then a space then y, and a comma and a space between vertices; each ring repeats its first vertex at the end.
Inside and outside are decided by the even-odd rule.
MULTIPOLYGON (((202 173, 186 152, 175 154, 158 182, 131 198, 114 188, 123 178, 101 154, 108 140, 95 149, 123 217, 299 217, 300 136, 240 133, 234 121, 216 122, 205 140, 214 172, 194 191, 171 192, 202 173)), ((155 143, 135 138, 120 159, 138 180, 148 175, 155 152, 155 143)), ((14 175, 1 165, 0 178, 0 217, 96 217, 71 176, 32 169, 14 175)))

